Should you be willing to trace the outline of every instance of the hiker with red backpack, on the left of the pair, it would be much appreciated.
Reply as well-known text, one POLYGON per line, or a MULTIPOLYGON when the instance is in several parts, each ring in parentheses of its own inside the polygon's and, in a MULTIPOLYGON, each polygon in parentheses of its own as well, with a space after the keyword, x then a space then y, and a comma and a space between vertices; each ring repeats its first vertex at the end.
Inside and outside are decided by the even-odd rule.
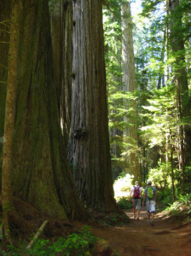
MULTIPOLYGON (((141 212, 141 197, 142 197, 142 187, 139 186, 139 182, 135 182, 135 186, 130 189, 130 195, 132 194, 132 203, 133 203, 133 214, 134 218, 139 219, 141 212)), ((129 195, 129 201, 130 201, 129 195)))

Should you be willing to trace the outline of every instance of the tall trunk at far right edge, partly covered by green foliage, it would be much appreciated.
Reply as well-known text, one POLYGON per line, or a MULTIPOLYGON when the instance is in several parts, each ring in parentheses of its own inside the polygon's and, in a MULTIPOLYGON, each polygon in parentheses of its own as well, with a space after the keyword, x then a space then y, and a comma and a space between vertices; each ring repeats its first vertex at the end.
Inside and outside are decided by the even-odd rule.
MULTIPOLYGON (((171 49, 175 57, 173 63, 173 72, 175 84, 177 86, 177 111, 178 118, 183 119, 190 116, 190 102, 188 96, 188 77, 186 71, 185 61, 185 49, 182 34, 182 14, 179 7, 179 0, 168 0, 167 9, 170 16, 170 27, 171 27, 171 49)), ((188 121, 188 120, 187 120, 188 121)), ((178 128, 179 140, 180 140, 180 160, 182 168, 182 192, 185 192, 185 172, 184 165, 185 160, 188 162, 190 159, 190 139, 191 139, 191 128, 190 125, 180 125, 178 128), (183 134, 185 133, 185 139, 183 134)))

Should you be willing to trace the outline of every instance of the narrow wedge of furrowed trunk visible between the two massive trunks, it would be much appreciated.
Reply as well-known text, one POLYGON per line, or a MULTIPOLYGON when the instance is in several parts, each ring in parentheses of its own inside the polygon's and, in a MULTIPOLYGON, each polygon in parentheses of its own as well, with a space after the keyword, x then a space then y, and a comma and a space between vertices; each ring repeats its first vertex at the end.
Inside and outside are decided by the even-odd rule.
POLYGON ((71 123, 72 94, 72 1, 52 1, 50 6, 55 84, 61 129, 66 147, 71 123))

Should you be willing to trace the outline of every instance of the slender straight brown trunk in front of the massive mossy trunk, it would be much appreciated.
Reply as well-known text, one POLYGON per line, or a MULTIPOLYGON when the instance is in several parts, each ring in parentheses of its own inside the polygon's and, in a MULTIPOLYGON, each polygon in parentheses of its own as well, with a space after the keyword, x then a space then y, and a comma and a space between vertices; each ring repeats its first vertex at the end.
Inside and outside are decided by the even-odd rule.
POLYGON ((12 1, 10 44, 9 44, 9 73, 8 89, 6 97, 5 121, 4 121, 4 145, 3 145, 3 174, 2 174, 2 205, 3 205, 3 230, 5 240, 10 244, 11 232, 9 228, 9 212, 13 208, 11 177, 13 167, 13 141, 14 119, 16 102, 16 76, 19 53, 19 21, 20 2, 12 1))

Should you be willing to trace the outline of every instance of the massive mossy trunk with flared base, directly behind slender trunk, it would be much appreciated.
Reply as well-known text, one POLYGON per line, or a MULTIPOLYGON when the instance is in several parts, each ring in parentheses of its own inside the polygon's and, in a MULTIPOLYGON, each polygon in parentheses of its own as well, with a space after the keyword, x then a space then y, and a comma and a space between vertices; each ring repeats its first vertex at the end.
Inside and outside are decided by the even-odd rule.
POLYGON ((61 135, 48 2, 23 0, 20 4, 14 195, 49 217, 82 218, 61 135))

